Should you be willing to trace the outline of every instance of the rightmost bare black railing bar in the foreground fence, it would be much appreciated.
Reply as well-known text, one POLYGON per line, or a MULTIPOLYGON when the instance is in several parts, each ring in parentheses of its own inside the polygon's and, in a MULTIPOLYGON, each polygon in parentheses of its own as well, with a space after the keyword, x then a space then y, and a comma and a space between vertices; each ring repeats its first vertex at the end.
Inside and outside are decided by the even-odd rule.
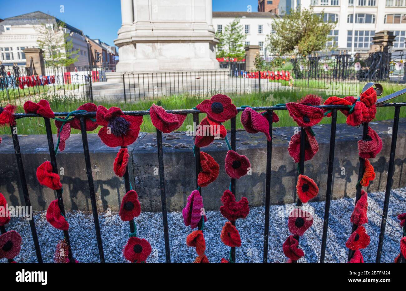
POLYGON ((396 106, 395 114, 393 116, 391 153, 389 155, 388 177, 387 177, 387 181, 386 181, 385 198, 384 198, 384 204, 383 204, 381 228, 380 228, 379 241, 378 241, 378 250, 376 252, 376 263, 380 263, 380 259, 381 259, 381 255, 382 255, 382 246, 383 246, 384 235, 385 235, 386 218, 387 218, 388 209, 389 209, 389 197, 391 196, 393 170, 395 167, 395 151, 396 151, 396 141, 397 141, 397 129, 399 127, 399 114, 400 114, 400 107, 396 106))

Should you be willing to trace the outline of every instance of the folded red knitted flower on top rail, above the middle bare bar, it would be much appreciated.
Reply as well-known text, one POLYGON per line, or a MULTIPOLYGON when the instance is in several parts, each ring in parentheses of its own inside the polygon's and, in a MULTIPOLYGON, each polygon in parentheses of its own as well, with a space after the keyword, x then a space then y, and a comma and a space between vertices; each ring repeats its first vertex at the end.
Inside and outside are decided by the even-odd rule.
POLYGON ((187 114, 171 114, 165 111, 162 106, 152 104, 149 108, 149 115, 153 126, 164 133, 169 133, 181 127, 187 114))

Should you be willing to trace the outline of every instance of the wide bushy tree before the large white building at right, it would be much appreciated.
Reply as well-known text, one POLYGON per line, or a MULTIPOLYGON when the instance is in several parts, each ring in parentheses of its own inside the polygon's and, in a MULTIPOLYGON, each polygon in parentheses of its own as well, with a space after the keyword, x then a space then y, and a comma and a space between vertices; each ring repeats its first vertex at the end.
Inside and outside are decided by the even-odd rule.
POLYGON ((324 50, 328 33, 335 27, 335 22, 324 22, 324 12, 315 14, 313 8, 294 11, 272 23, 274 33, 268 35, 268 46, 275 54, 294 52, 307 56, 312 52, 324 50))

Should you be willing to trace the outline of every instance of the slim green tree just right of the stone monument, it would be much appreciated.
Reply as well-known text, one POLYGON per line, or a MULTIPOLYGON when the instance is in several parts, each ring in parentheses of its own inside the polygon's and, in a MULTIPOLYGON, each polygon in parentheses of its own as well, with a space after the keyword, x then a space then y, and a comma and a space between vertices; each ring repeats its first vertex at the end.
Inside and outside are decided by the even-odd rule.
POLYGON ((235 18, 230 24, 227 24, 224 32, 216 32, 216 37, 219 39, 216 52, 217 58, 244 58, 246 35, 239 19, 235 18))

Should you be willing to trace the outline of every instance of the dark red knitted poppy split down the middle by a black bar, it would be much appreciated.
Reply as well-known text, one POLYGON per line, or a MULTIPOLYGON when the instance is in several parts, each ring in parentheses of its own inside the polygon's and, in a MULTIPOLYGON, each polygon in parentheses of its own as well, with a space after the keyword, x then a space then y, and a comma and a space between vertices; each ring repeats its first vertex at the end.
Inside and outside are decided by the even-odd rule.
MULTIPOLYGON (((319 144, 308 127, 304 128, 304 132, 306 132, 306 138, 304 141, 304 161, 308 161, 314 157, 317 151, 319 151, 319 144)), ((290 138, 289 147, 287 148, 289 155, 293 157, 295 163, 300 161, 300 134, 301 131, 290 138)))

